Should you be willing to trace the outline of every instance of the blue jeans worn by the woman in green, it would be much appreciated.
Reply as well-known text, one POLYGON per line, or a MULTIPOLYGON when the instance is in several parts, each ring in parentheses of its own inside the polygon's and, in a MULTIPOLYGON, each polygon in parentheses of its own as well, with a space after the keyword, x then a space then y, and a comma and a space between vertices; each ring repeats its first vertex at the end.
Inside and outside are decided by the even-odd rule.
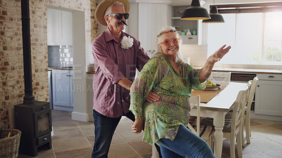
POLYGON ((185 126, 179 126, 173 140, 161 138, 157 143, 163 158, 216 158, 209 145, 185 126))

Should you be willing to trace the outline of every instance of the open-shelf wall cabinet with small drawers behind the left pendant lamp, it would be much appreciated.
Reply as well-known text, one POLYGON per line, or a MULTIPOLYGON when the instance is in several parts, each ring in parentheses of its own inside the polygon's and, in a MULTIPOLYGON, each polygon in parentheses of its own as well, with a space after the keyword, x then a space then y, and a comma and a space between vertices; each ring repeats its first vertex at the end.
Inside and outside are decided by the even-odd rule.
POLYGON ((201 30, 202 30, 202 20, 180 20, 180 17, 188 6, 171 6, 171 24, 176 27, 179 34, 183 29, 197 29, 197 34, 194 35, 180 35, 182 44, 202 44, 201 30))

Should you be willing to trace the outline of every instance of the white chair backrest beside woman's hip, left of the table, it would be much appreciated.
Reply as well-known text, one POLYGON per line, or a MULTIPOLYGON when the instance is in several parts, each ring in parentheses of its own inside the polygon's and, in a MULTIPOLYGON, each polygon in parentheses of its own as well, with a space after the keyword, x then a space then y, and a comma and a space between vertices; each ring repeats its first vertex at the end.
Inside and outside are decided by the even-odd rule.
POLYGON ((195 131, 195 129, 192 127, 191 124, 188 124, 188 128, 195 134, 197 134, 197 136, 200 136, 200 96, 191 96, 189 98, 189 102, 190 102, 190 108, 192 109, 193 107, 197 107, 197 131, 195 131))

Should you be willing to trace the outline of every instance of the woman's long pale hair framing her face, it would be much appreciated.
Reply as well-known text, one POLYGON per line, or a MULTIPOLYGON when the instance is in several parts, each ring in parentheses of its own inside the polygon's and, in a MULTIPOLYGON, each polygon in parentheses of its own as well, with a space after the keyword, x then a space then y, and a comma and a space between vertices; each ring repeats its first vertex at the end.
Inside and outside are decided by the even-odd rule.
MULTIPOLYGON (((158 34, 160 34, 161 32, 164 32, 164 31, 169 31, 171 29, 176 30, 175 27, 162 27, 158 34)), ((180 39, 179 34, 177 32, 174 32, 174 33, 176 34, 176 37, 180 39)), ((159 37, 161 37, 161 35, 159 37)), ((159 37, 157 37, 157 52, 154 53, 154 56, 164 55, 164 53, 162 52, 161 47, 160 47, 162 41, 160 40, 159 37)), ((180 51, 180 42, 179 42, 178 52, 176 53, 176 63, 178 63, 179 65, 183 64, 183 56, 182 56, 182 53, 180 51)))

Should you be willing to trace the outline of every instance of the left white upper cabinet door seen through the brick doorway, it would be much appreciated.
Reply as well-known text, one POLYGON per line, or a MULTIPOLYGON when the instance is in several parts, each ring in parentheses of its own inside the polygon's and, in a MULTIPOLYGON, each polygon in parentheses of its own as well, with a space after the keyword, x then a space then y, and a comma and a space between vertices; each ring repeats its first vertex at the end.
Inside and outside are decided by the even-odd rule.
POLYGON ((47 44, 59 44, 59 10, 47 8, 47 44))

